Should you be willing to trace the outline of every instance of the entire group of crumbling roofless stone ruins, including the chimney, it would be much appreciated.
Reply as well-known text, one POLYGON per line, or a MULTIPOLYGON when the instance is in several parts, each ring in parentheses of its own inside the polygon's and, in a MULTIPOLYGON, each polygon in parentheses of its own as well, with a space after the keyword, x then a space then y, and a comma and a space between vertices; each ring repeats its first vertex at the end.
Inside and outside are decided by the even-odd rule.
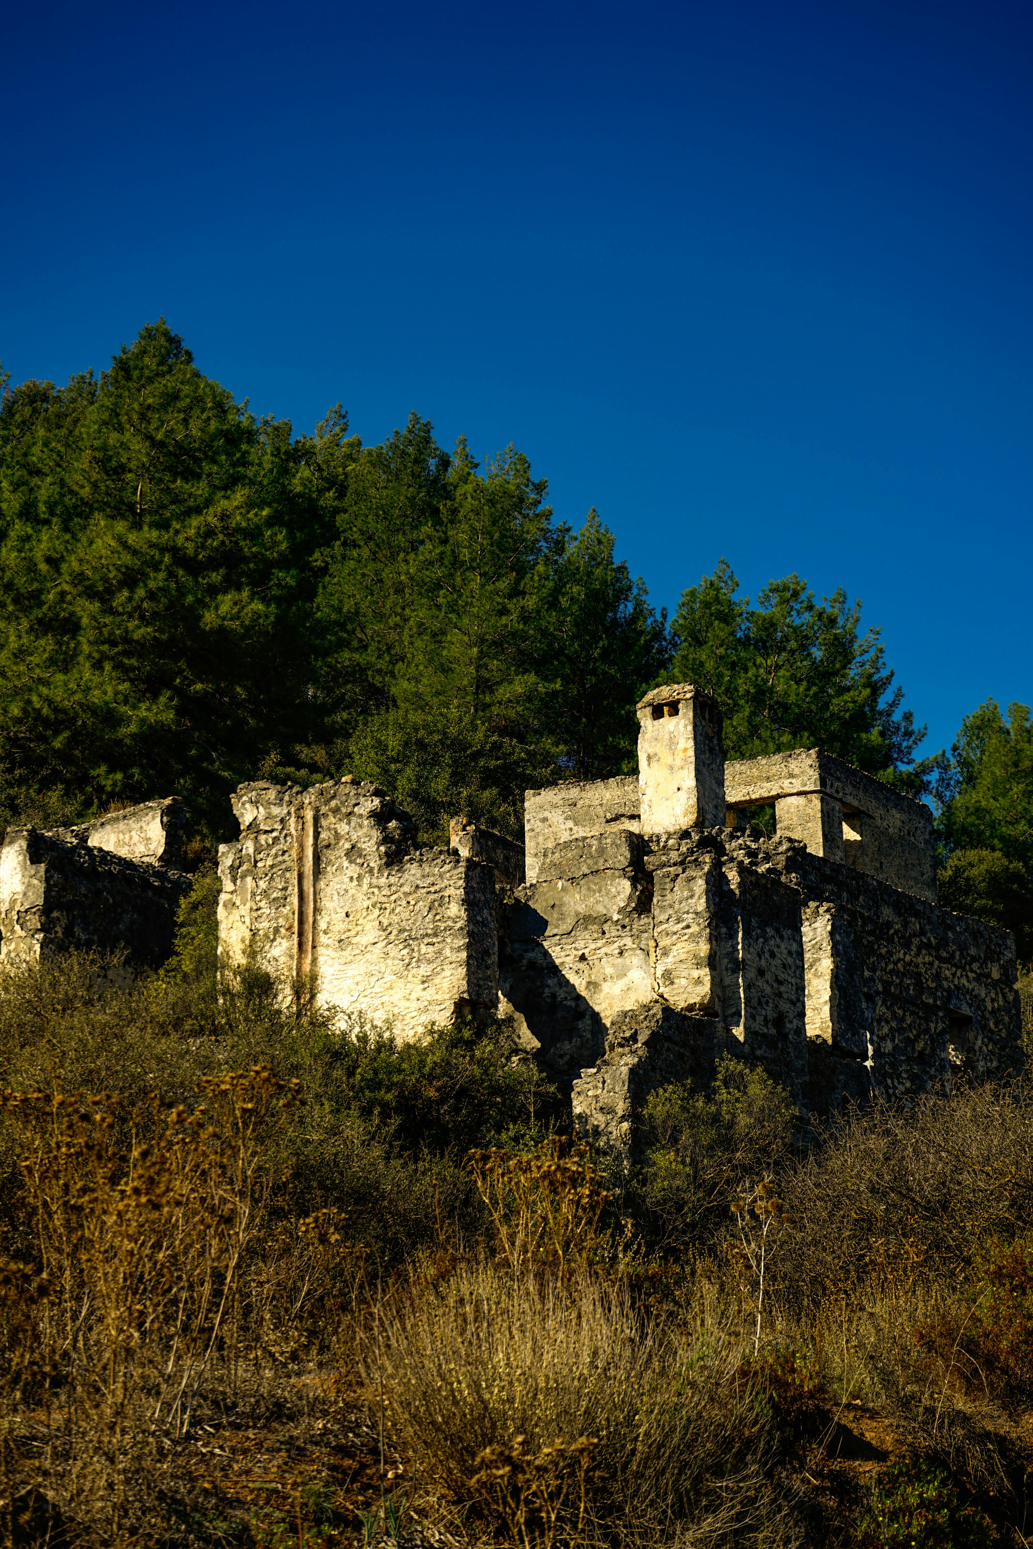
MULTIPOLYGON (((816 1114, 1019 1067, 1014 939, 937 908, 926 805, 818 748, 725 764, 720 709, 691 683, 638 719, 638 776, 528 792, 525 846, 457 819, 448 849, 421 847, 353 778, 242 785, 225 960, 401 1038, 508 1019, 613 1148, 650 1090, 706 1084, 723 1052, 816 1114), (750 823, 762 805, 771 838, 750 823)), ((172 799, 9 830, 0 963, 112 940, 160 960, 189 886, 180 829, 172 799)))

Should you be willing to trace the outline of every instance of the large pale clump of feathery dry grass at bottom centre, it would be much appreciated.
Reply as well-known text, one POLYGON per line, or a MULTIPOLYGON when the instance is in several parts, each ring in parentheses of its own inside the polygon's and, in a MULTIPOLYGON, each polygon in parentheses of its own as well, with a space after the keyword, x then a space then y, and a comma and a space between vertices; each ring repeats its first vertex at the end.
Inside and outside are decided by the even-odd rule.
POLYGON ((364 1371, 438 1509, 503 1541, 602 1524, 621 1543, 777 1541, 773 1434, 742 1354, 739 1331, 658 1321, 590 1272, 480 1259, 384 1306, 364 1371))

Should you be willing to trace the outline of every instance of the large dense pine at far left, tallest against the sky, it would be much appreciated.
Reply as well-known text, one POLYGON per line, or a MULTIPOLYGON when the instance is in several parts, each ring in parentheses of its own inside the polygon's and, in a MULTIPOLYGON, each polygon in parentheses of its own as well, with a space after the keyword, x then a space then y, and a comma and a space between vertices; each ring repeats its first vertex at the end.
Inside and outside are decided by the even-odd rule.
POLYGON ((169 790, 195 821, 299 736, 313 553, 287 421, 256 421, 164 322, 110 370, 0 403, 0 801, 169 790))

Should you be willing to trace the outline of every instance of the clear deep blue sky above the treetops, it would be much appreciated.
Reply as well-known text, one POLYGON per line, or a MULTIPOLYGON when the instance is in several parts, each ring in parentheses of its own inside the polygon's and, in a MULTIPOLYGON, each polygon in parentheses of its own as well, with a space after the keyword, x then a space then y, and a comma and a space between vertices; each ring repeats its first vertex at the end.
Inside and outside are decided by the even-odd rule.
POLYGON ((297 429, 513 441, 657 606, 861 596, 934 751, 1033 699, 1031 70, 994 0, 9 5, 0 358, 163 314, 297 429))

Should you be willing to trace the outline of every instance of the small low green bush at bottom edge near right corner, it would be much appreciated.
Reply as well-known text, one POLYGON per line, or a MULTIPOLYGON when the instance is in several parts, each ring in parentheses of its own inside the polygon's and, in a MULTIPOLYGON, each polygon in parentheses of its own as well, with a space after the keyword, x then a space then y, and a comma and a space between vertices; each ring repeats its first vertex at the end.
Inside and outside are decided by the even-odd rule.
POLYGON ((962 1506, 951 1476, 918 1459, 886 1470, 855 1529, 858 1549, 988 1549, 993 1541, 990 1521, 962 1506))

